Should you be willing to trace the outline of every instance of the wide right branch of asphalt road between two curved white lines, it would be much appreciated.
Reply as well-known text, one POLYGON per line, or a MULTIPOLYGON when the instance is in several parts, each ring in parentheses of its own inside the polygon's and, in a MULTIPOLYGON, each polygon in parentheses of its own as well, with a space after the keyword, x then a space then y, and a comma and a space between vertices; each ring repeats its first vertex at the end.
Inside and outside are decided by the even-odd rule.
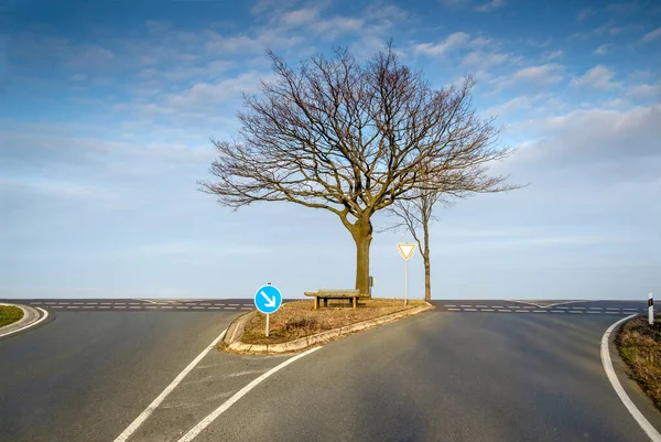
POLYGON ((649 441, 602 367, 613 322, 425 313, 325 345, 196 441, 649 441))

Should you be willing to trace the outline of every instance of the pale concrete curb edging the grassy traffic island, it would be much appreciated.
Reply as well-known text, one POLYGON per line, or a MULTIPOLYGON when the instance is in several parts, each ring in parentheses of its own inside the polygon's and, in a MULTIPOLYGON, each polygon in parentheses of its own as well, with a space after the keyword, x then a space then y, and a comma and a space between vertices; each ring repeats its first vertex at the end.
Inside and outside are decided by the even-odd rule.
POLYGON ((350 333, 359 332, 362 330, 376 327, 377 325, 382 325, 392 321, 400 320, 405 316, 413 316, 415 314, 425 312, 427 310, 433 309, 434 306, 429 302, 425 302, 426 305, 421 305, 415 309, 404 310, 402 312, 395 312, 391 314, 387 314, 383 316, 375 317, 372 320, 367 320, 362 322, 357 322, 351 325, 346 325, 344 327, 328 330, 326 332, 317 333, 316 335, 304 336, 299 339, 290 341, 288 343, 282 344, 245 344, 241 342, 241 336, 243 335, 243 330, 246 327, 246 323, 250 319, 250 314, 248 313, 235 322, 231 323, 229 328, 227 330, 227 334, 224 339, 224 349, 229 353, 251 353, 251 354, 281 354, 281 353, 293 353, 301 352, 308 347, 312 347, 316 344, 327 342, 344 335, 348 335, 350 333))

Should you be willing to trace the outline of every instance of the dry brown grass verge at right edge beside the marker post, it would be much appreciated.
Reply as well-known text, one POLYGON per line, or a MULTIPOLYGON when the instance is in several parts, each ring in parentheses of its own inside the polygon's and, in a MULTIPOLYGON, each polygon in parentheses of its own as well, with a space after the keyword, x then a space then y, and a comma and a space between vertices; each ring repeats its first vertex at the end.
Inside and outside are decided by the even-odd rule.
POLYGON ((615 343, 631 377, 661 410, 661 317, 652 326, 647 316, 627 321, 615 343))

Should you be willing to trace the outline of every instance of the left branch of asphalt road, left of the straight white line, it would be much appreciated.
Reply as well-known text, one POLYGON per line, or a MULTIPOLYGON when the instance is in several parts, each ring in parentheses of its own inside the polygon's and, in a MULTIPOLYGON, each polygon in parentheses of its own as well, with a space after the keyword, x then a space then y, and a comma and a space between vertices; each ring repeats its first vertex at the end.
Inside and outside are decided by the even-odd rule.
POLYGON ((2 441, 112 441, 238 315, 52 314, 0 339, 2 441))

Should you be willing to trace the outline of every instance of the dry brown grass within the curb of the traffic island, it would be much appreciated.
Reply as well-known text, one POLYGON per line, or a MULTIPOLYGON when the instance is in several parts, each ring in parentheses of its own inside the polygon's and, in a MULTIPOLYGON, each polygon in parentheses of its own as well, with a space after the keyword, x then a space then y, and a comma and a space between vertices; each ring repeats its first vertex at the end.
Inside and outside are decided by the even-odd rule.
POLYGON ((329 300, 327 308, 314 310, 314 301, 284 303, 271 314, 269 337, 264 336, 267 315, 250 313, 241 342, 246 344, 282 344, 299 337, 310 336, 357 322, 371 320, 390 313, 424 305, 424 301, 409 300, 404 309, 403 300, 372 299, 360 300, 354 310, 349 301, 329 300))

